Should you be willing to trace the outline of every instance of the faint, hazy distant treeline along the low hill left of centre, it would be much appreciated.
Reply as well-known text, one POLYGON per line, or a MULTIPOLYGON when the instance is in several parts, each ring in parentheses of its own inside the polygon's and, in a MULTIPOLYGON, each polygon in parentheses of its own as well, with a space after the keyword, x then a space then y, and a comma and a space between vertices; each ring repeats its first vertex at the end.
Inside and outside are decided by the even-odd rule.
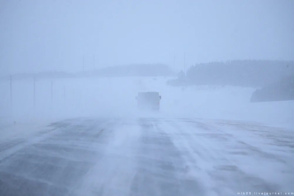
MULTIPOLYGON (((173 72, 169 66, 164 64, 134 64, 112 66, 91 71, 81 71, 77 73, 67 72, 39 72, 39 73, 20 73, 13 74, 12 78, 78 78, 78 77, 112 77, 112 76, 170 76, 173 72)), ((0 79, 7 80, 10 76, 3 76, 0 79)))

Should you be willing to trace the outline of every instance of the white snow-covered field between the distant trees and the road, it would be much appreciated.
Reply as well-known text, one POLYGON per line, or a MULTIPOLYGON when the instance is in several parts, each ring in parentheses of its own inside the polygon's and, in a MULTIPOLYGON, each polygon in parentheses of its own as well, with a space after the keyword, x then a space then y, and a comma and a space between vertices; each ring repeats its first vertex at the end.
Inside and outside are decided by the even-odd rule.
MULTIPOLYGON (((171 87, 163 77, 66 78, 12 82, 2 81, 2 123, 42 120, 52 122, 81 116, 144 116, 137 111, 139 91, 158 91, 158 117, 193 117, 256 121, 279 127, 294 127, 294 101, 250 103, 253 88, 233 86, 171 87), (9 118, 7 118, 9 117, 9 118), (11 118, 12 117, 12 118, 11 118)), ((151 116, 155 114, 150 114, 151 116)))

